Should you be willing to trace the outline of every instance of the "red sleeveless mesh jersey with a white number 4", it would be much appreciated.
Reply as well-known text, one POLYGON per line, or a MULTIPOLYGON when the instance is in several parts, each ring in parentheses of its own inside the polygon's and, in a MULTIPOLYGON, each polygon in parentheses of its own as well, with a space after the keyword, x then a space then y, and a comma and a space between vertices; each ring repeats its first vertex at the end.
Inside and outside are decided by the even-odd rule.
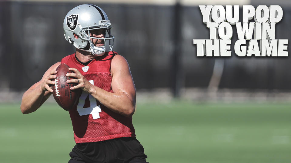
MULTIPOLYGON (((66 56, 61 63, 78 69, 93 85, 108 92, 111 88, 111 60, 116 52, 107 52, 87 66, 78 62, 75 54, 66 56)), ((98 142, 120 137, 135 137, 132 117, 115 113, 102 105, 92 95, 82 92, 79 101, 69 110, 76 143, 98 142)))

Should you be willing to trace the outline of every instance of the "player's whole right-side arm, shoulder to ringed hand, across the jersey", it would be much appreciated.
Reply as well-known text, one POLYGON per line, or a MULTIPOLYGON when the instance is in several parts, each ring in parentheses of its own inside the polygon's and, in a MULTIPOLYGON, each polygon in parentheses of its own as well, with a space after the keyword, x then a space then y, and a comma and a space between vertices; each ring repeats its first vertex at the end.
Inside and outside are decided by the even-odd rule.
MULTIPOLYGON (((135 111, 135 86, 129 65, 124 57, 116 55, 111 62, 113 93, 92 85, 77 69, 69 68, 69 70, 75 71, 75 74, 69 73, 67 76, 79 79, 79 84, 71 89, 81 88, 115 113, 126 117, 132 116, 135 111)), ((71 79, 67 82, 76 83, 78 79, 71 79)))

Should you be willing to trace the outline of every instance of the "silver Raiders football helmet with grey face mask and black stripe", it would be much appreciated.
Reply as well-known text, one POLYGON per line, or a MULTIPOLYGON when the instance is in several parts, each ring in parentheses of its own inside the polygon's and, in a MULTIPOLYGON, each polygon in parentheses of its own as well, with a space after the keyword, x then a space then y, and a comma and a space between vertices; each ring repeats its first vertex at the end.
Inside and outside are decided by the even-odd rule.
POLYGON ((114 37, 110 34, 111 24, 105 12, 98 6, 85 4, 73 8, 66 15, 64 20, 64 35, 69 43, 77 49, 91 52, 93 55, 102 56, 105 52, 112 51, 114 37), (95 46, 91 39, 97 37, 90 36, 91 30, 106 28, 104 46, 95 46), (75 38, 74 34, 79 38, 75 38))

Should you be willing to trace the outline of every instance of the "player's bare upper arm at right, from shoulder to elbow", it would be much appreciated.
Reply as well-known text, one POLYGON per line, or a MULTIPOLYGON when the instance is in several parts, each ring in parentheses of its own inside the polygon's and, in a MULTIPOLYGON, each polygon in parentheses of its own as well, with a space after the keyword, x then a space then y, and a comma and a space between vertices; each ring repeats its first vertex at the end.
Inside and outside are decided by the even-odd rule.
POLYGON ((112 82, 111 87, 114 93, 123 93, 135 100, 135 86, 129 65, 126 59, 116 55, 111 63, 112 82))

